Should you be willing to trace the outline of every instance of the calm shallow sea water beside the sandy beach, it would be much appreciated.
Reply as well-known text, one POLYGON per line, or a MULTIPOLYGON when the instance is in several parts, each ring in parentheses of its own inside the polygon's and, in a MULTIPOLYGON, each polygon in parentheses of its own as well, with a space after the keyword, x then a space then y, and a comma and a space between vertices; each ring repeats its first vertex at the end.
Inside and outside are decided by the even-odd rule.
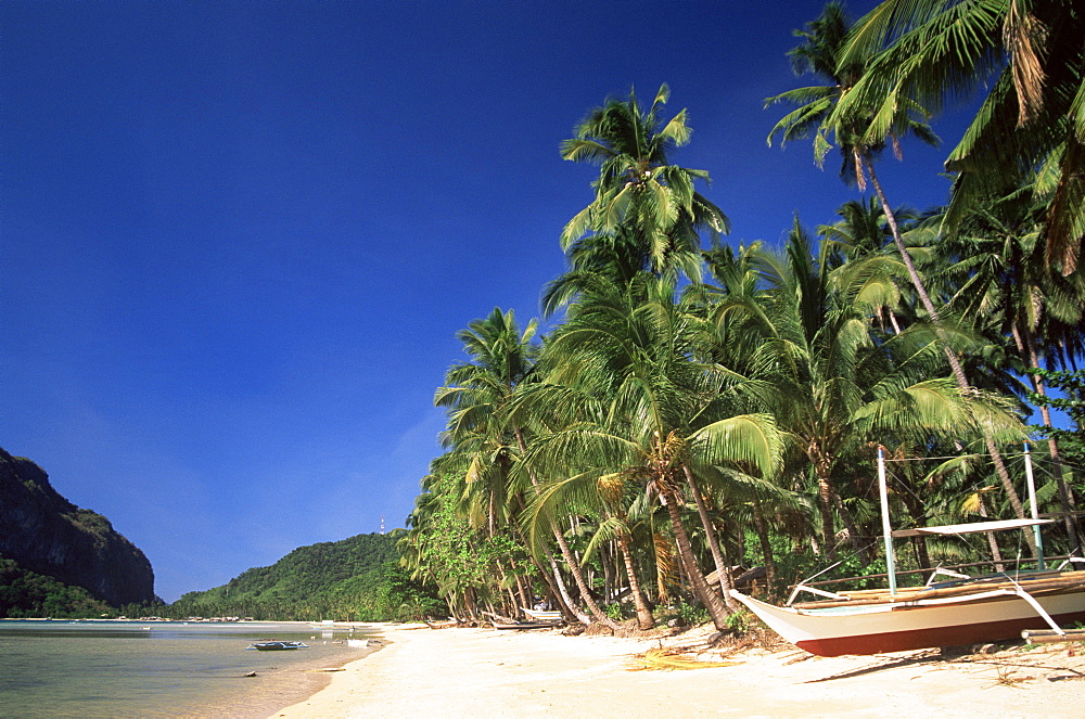
POLYGON ((299 624, 0 620, 0 717, 267 717, 369 649, 299 624), (308 649, 256 652, 253 641, 308 649), (245 677, 255 671, 255 677, 245 677))

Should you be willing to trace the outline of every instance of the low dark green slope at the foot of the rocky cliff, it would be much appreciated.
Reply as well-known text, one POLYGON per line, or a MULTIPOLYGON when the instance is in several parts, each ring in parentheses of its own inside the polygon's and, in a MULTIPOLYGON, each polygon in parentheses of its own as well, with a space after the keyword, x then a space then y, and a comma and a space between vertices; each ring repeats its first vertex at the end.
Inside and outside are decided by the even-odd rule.
POLYGON ((23 569, 0 557, 0 617, 99 617, 113 609, 82 587, 23 569))

